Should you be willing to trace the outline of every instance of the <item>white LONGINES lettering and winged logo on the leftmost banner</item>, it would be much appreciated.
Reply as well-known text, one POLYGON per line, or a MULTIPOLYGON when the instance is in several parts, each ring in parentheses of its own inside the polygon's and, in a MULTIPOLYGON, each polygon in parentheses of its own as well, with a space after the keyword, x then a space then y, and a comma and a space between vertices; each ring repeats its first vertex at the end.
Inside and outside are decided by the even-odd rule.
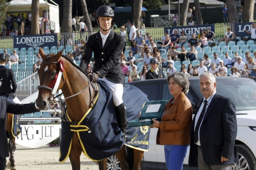
POLYGON ((31 36, 31 37, 17 37, 16 44, 25 44, 36 48, 48 42, 54 42, 54 36, 31 36))

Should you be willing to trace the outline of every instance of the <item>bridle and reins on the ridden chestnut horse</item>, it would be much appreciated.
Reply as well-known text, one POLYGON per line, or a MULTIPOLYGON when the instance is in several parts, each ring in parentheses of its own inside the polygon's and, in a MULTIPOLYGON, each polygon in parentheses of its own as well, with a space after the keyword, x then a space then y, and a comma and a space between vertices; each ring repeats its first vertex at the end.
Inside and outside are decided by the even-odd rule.
MULTIPOLYGON (((83 91, 85 91, 85 89, 87 89, 88 87, 90 87, 90 85, 93 83, 93 81, 90 82, 90 79, 88 78, 88 85, 85 86, 85 88, 83 88, 80 92, 74 94, 74 95, 71 95, 69 97, 66 97, 64 99, 60 99, 60 100, 54 100, 55 98, 59 97, 60 95, 62 95, 63 93, 55 96, 56 92, 57 92, 57 89, 60 85, 60 80, 61 80, 61 77, 63 78, 63 81, 65 81, 64 79, 64 76, 62 74, 62 72, 65 70, 65 65, 64 65, 64 62, 62 60, 59 60, 57 62, 42 62, 42 64, 58 64, 59 66, 59 71, 56 73, 55 75, 55 78, 51 81, 51 83, 48 85, 48 86, 45 86, 45 85, 39 85, 37 88, 38 89, 45 89, 45 90, 49 90, 51 91, 51 97, 50 97, 50 104, 52 105, 52 108, 55 110, 55 112, 57 113, 58 117, 60 117, 60 119, 62 119, 63 121, 65 122, 68 122, 72 125, 76 125, 79 121, 70 121, 68 118, 67 118, 67 115, 66 115, 66 112, 64 110, 64 107, 63 107, 63 101, 65 101, 66 99, 69 99, 71 97, 75 97, 77 95, 80 95, 83 91), (55 96, 55 97, 54 97, 55 96), (63 112, 64 112, 64 118, 62 118, 60 116, 60 114, 56 111, 55 107, 53 106, 54 103, 58 103, 58 102, 62 102, 62 109, 63 109, 63 112)), ((97 90, 97 87, 94 86, 94 84, 92 84, 92 87, 94 88, 95 92, 96 93, 99 93, 99 91, 97 90)), ((91 93, 91 90, 89 90, 90 92, 90 96, 92 98, 92 101, 91 101, 91 104, 90 106, 91 107, 94 107, 94 101, 96 99, 96 97, 92 97, 92 93, 91 93)), ((96 95, 97 96, 97 95, 96 95)))

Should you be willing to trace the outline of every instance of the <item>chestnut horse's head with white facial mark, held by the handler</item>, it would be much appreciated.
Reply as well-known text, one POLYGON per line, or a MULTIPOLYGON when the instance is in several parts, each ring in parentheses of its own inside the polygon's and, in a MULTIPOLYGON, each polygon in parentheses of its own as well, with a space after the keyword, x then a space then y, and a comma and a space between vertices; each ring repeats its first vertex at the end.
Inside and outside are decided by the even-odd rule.
MULTIPOLYGON (((37 72, 39 75, 40 86, 38 86, 39 93, 36 103, 37 107, 40 110, 48 109, 52 90, 54 89, 54 86, 56 84, 55 81, 57 80, 60 71, 60 64, 58 61, 62 55, 62 51, 57 54, 50 53, 48 55, 45 55, 42 48, 40 47, 39 49, 39 54, 40 56, 42 56, 42 63, 40 69, 37 72)), ((61 89, 63 84, 64 83, 61 79, 57 90, 61 89)))

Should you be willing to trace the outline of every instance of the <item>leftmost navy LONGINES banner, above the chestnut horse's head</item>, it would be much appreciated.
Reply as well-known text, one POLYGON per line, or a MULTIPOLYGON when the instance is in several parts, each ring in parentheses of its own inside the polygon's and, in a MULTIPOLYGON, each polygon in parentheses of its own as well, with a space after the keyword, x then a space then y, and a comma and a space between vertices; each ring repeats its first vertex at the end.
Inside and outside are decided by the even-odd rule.
POLYGON ((40 34, 40 35, 22 35, 13 36, 13 46, 14 48, 21 49, 22 47, 45 47, 57 46, 58 39, 57 34, 40 34))

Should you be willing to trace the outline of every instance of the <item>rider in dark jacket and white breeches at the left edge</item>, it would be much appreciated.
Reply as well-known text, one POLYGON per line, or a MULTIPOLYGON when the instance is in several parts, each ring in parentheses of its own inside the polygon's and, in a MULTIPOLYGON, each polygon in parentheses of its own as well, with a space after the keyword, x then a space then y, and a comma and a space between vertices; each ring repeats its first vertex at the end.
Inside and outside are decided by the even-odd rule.
POLYGON ((5 66, 6 62, 7 59, 5 58, 5 53, 0 53, 0 77, 3 78, 2 86, 0 87, 0 96, 7 97, 10 100, 13 100, 13 102, 20 104, 20 100, 15 97, 17 83, 14 77, 14 72, 12 69, 5 66), (12 83, 12 88, 10 82, 12 83))

